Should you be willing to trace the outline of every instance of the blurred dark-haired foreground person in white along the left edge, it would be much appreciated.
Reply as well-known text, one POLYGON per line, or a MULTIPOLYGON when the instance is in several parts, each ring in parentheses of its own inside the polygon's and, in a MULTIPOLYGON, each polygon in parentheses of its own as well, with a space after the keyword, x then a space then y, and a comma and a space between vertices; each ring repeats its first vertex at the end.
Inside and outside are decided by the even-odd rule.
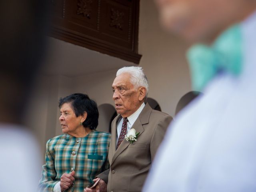
POLYGON ((41 0, 0 2, 2 192, 35 192, 40 179, 40 150, 24 116, 43 55, 46 10, 41 0))

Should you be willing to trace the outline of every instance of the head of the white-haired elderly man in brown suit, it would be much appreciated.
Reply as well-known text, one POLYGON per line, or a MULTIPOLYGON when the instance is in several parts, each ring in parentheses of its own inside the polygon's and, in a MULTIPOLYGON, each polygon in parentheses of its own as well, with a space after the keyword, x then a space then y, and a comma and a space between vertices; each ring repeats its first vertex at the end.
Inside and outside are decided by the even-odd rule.
POLYGON ((133 114, 148 94, 148 80, 141 67, 123 67, 112 84, 116 111, 122 117, 133 114))

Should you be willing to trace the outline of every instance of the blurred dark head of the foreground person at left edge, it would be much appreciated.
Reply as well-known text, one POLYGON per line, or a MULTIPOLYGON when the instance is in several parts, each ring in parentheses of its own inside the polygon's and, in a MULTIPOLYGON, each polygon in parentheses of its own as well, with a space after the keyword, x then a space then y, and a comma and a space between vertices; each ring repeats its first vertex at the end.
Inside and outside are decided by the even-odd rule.
POLYGON ((43 0, 0 1, 0 122, 24 123, 45 51, 47 4, 43 0))

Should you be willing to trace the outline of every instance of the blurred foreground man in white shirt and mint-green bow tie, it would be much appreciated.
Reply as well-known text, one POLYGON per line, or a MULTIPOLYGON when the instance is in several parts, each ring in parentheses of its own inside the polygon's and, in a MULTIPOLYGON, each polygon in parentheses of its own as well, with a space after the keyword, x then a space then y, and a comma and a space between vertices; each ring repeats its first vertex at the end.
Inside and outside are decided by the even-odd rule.
POLYGON ((166 28, 193 42, 203 90, 166 134, 144 192, 256 191, 256 1, 156 0, 166 28))

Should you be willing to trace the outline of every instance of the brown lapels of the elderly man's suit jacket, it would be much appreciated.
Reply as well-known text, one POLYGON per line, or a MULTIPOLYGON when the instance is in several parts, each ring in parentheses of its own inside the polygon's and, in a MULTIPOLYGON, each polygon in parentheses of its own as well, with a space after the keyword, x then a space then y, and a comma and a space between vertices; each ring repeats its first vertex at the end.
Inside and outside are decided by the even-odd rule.
MULTIPOLYGON (((149 104, 146 104, 146 106, 143 108, 142 112, 140 113, 140 115, 132 125, 131 129, 134 128, 136 132, 140 132, 140 134, 138 135, 138 138, 144 132, 144 128, 142 125, 148 124, 149 116, 151 112, 152 112, 152 108, 149 106, 149 104)), ((118 118, 116 119, 116 122, 118 122, 118 118)), ((118 147, 118 149, 116 150, 116 126, 117 126, 116 122, 114 122, 114 129, 113 129, 114 132, 112 132, 113 156, 112 156, 112 160, 110 161, 110 165, 113 164, 114 160, 118 157, 118 155, 120 155, 130 144, 130 142, 124 139, 123 142, 118 147)))

